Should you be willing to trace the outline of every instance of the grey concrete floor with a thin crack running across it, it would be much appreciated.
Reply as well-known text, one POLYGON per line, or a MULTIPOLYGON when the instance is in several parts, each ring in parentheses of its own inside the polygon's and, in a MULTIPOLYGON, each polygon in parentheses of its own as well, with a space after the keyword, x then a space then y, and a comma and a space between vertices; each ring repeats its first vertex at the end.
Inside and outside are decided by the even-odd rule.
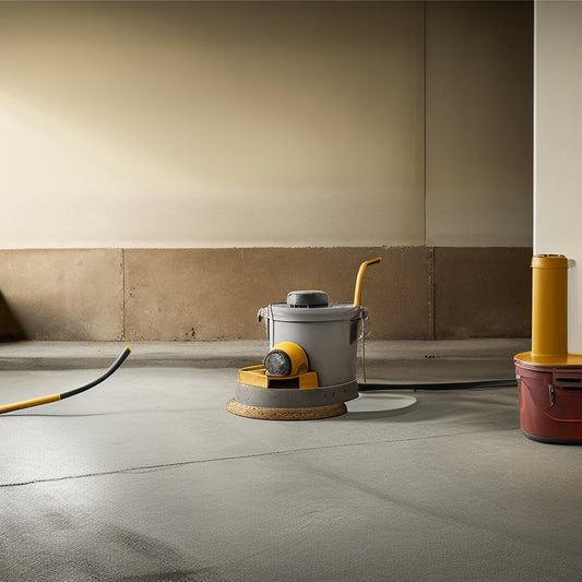
MULTIPOLYGON (((0 402, 83 384, 122 347, 2 344, 0 402)), ((264 343, 133 348, 99 387, 0 417, 0 580, 582 579, 582 449, 525 438, 516 388, 367 392, 335 418, 256 420, 225 404, 264 343)), ((511 377, 527 348, 369 343, 367 372, 511 377)))

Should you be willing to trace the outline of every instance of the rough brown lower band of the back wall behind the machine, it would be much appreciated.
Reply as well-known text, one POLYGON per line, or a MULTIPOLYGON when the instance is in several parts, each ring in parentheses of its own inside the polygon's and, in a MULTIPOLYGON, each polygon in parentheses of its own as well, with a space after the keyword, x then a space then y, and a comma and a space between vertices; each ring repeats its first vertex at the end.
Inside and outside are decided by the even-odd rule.
POLYGON ((0 337, 262 338, 257 312, 289 290, 351 302, 359 264, 377 340, 524 337, 527 248, 333 247, 0 251, 0 337))

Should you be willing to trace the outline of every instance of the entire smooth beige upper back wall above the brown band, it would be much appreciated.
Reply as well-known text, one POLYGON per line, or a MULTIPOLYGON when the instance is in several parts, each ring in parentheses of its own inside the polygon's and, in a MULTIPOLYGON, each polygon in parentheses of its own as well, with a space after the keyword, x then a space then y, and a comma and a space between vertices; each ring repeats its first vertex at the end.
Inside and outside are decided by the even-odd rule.
POLYGON ((0 248, 531 246, 531 17, 0 3, 0 248))

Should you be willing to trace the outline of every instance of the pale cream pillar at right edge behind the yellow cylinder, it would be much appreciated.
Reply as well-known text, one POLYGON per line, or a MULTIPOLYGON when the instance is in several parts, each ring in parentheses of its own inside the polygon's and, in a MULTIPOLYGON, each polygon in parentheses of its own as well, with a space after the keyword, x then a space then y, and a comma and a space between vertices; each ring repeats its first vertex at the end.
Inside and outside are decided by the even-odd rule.
POLYGON ((568 347, 582 353, 582 2, 536 2, 534 250, 571 259, 568 347))

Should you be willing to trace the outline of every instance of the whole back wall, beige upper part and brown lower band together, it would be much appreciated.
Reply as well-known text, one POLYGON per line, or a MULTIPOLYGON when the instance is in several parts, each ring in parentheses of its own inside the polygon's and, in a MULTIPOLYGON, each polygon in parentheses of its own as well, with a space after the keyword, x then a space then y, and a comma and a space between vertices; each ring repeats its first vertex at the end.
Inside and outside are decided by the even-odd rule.
POLYGON ((531 2, 0 2, 0 337, 528 333, 531 2), (426 112, 426 115, 425 115, 426 112))

